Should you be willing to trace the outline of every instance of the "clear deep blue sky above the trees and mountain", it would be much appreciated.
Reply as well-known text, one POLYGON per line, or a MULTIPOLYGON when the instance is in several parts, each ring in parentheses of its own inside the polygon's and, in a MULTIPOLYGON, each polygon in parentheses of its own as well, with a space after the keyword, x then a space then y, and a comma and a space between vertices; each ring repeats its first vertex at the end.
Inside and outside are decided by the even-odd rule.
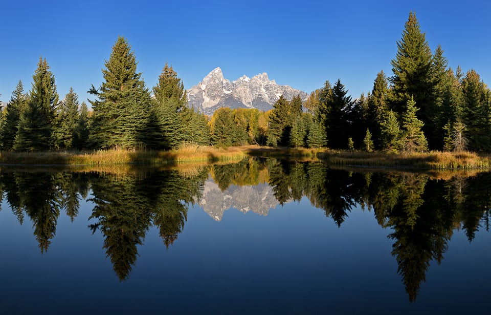
POLYGON ((185 88, 216 67, 230 80, 267 72, 307 93, 338 78, 353 97, 367 94, 378 72, 392 75, 396 41, 416 12, 432 51, 438 44, 464 71, 491 85, 491 2, 469 1, 5 1, 0 6, 0 100, 17 82, 31 89, 39 56, 60 97, 79 100, 118 35, 126 37, 149 88, 167 61, 185 88))

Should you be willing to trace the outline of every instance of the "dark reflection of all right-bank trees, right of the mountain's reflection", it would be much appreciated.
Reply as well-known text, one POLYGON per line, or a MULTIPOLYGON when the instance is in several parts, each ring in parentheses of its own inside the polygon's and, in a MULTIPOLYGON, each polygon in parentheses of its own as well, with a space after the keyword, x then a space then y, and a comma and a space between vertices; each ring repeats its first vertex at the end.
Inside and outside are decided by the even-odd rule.
POLYGON ((454 228, 462 226, 469 240, 481 222, 489 228, 488 174, 443 181, 415 173, 361 175, 332 170, 323 163, 273 160, 267 165, 280 202, 299 200, 303 194, 338 226, 356 203, 372 208, 378 224, 393 230, 392 255, 410 301, 416 300, 430 263, 442 262, 454 228))

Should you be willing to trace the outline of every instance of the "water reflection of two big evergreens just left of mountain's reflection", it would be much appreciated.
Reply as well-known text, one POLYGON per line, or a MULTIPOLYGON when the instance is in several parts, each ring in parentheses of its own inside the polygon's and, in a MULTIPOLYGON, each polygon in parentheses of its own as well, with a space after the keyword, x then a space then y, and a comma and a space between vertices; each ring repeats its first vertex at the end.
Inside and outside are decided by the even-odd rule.
POLYGON ((177 171, 152 172, 145 176, 93 174, 95 206, 93 232, 104 235, 106 254, 120 280, 128 277, 138 256, 138 245, 153 224, 169 246, 182 232, 188 204, 200 193, 207 172, 186 178, 177 171))

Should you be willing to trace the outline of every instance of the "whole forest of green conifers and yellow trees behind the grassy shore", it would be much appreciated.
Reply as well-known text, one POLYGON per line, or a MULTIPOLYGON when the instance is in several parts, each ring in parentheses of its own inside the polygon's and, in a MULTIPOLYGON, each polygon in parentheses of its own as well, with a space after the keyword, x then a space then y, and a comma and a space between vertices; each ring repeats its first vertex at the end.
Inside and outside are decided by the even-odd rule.
POLYGON ((167 64, 151 90, 118 37, 92 111, 73 89, 60 100, 46 59, 32 89, 17 88, 0 117, 0 150, 169 150, 183 143, 398 152, 491 152, 491 92, 475 70, 453 70, 432 52, 414 12, 397 41, 392 76, 352 99, 338 79, 306 101, 281 96, 271 111, 220 108, 211 117, 188 107, 182 80, 167 64))

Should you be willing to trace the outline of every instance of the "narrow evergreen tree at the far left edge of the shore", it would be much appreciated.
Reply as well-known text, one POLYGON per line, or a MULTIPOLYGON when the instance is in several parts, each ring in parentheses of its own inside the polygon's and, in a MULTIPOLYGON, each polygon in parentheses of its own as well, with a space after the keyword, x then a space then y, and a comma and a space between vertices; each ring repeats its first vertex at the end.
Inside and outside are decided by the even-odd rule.
POLYGON ((24 94, 24 87, 21 81, 17 83, 17 88, 12 92, 12 97, 4 110, 4 120, 0 130, 1 149, 10 151, 13 148, 15 135, 17 134, 20 113, 23 111, 28 97, 24 94))

